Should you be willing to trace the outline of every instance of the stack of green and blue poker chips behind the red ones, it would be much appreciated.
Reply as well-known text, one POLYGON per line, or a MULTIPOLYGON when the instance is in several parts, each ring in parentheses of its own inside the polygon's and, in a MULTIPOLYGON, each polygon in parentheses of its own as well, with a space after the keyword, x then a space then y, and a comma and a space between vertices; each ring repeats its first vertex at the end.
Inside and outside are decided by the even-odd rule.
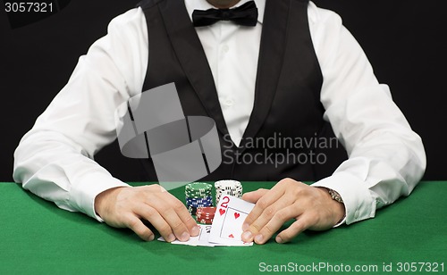
POLYGON ((185 187, 186 207, 195 215, 198 207, 213 206, 211 190, 213 186, 203 182, 193 182, 185 187))

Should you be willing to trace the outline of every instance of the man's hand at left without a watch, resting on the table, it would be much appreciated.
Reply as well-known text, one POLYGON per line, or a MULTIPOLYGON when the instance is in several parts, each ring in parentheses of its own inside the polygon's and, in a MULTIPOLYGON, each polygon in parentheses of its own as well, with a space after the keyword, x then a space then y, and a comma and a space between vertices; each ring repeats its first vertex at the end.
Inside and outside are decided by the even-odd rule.
POLYGON ((155 236, 141 220, 149 221, 168 242, 198 236, 185 205, 159 185, 105 190, 95 199, 95 211, 108 225, 130 228, 147 241, 155 236))

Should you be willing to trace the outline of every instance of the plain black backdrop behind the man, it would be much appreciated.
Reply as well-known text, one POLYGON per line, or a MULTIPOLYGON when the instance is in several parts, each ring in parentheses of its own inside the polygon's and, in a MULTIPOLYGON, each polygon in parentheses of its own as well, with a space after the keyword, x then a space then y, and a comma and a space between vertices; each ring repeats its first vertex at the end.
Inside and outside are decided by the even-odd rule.
MULTIPOLYGON (((50 17, 17 29, 11 28, 2 6, 0 181, 13 180, 15 147, 67 82, 79 56, 105 35, 110 20, 136 3, 75 0, 50 17)), ((426 146, 425 179, 447 179, 443 166, 447 153, 445 3, 442 0, 316 0, 314 3, 342 16, 344 25, 367 53, 377 78, 391 87, 394 101, 426 146)), ((106 147, 96 159, 115 177, 139 179, 138 162, 122 157, 116 144, 106 147)))

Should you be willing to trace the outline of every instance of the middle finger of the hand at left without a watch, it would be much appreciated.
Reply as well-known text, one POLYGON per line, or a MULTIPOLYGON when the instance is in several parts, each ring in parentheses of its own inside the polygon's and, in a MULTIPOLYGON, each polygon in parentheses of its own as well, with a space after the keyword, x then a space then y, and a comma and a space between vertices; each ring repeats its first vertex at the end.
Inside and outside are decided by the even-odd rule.
MULTIPOLYGON (((167 222, 168 227, 172 229, 173 235, 182 242, 190 239, 190 231, 186 225, 181 221, 179 215, 173 209, 173 206, 168 201, 168 196, 153 196, 150 199, 150 206, 156 209, 162 219, 167 222)), ((156 225, 153 224, 155 227, 156 225)), ((158 228, 156 228, 158 229, 158 228)), ((168 231, 168 229, 163 228, 168 231)), ((160 232, 161 233, 161 232, 160 232)))

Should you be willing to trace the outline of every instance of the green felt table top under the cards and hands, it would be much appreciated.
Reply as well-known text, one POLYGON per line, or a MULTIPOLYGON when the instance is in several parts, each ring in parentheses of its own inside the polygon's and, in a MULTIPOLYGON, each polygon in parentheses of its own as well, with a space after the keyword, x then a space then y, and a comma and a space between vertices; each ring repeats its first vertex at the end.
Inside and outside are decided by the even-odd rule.
MULTIPOLYGON (((244 191, 272 187, 245 182, 244 191)), ((183 197, 183 189, 172 191, 183 197)), ((14 183, 0 183, 0 274, 447 273, 447 182, 421 182, 411 196, 361 221, 264 246, 175 246, 144 242, 79 212, 66 212, 14 183), (411 262, 413 267, 411 267, 411 262), (392 265, 390 265, 392 264, 392 265), (393 272, 385 272, 392 267, 393 272), (431 265, 432 271, 434 266, 431 265), (283 266, 283 268, 284 268, 283 266), (317 267, 317 269, 316 269, 317 267), (411 272, 417 267, 417 272, 411 272), (422 269, 422 271, 421 271, 422 269), (401 270, 401 272, 399 272, 401 270)))

